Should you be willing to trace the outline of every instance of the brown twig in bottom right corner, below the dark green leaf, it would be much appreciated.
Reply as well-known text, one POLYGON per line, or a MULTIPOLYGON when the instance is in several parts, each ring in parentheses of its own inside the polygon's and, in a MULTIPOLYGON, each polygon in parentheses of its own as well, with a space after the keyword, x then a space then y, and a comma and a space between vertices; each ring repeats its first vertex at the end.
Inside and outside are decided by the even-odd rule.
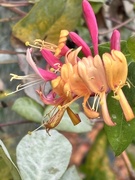
POLYGON ((127 156, 127 153, 126 151, 123 151, 122 154, 121 154, 125 164, 126 164, 126 167, 127 167, 127 170, 128 170, 128 173, 130 175, 130 179, 131 180, 135 180, 135 171, 133 170, 133 167, 131 165, 131 162, 127 156))

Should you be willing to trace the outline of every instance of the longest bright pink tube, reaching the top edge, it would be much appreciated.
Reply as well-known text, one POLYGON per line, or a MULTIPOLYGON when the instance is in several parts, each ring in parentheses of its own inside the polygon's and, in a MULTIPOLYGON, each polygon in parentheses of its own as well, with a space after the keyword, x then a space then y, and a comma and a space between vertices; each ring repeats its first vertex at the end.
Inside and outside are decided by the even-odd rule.
POLYGON ((98 27, 95 14, 89 2, 87 0, 83 0, 82 2, 83 15, 88 26, 88 30, 91 35, 94 54, 98 54, 98 27))

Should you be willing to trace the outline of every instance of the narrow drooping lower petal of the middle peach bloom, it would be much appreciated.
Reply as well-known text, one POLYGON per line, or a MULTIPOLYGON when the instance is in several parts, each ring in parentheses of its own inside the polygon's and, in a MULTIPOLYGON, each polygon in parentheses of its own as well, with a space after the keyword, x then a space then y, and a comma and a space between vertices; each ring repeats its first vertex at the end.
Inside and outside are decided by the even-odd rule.
POLYGON ((108 126, 115 126, 116 123, 112 121, 108 112, 105 93, 102 93, 102 96, 101 96, 101 111, 102 111, 102 116, 103 116, 103 120, 105 124, 107 124, 108 126))

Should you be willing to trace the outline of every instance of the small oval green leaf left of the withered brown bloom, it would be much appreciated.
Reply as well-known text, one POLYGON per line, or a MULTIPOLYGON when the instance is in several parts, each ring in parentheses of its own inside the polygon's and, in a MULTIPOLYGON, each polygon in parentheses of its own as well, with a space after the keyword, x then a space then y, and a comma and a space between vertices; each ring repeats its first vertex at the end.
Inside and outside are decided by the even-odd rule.
POLYGON ((12 110, 27 120, 41 122, 43 119, 43 107, 29 97, 18 98, 12 106, 12 110))

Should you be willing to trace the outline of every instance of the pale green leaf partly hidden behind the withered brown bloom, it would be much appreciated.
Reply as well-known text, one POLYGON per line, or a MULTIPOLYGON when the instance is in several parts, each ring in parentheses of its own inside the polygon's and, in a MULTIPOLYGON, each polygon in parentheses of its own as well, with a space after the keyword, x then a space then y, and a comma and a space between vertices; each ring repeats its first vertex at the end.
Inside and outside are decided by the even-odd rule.
MULTIPOLYGON (((73 103, 70 106, 74 113, 77 113, 81 119, 81 122, 77 125, 73 125, 71 119, 69 118, 67 112, 64 113, 61 122, 55 129, 59 131, 66 131, 66 132, 74 132, 74 133, 84 133, 89 132, 92 130, 93 123, 84 115, 84 113, 80 112, 79 105, 77 103, 73 103)), ((53 106, 46 106, 44 114, 48 114, 53 106)), ((51 115, 51 114, 49 114, 51 115)), ((48 116, 44 118, 44 121, 48 120, 48 116)))

